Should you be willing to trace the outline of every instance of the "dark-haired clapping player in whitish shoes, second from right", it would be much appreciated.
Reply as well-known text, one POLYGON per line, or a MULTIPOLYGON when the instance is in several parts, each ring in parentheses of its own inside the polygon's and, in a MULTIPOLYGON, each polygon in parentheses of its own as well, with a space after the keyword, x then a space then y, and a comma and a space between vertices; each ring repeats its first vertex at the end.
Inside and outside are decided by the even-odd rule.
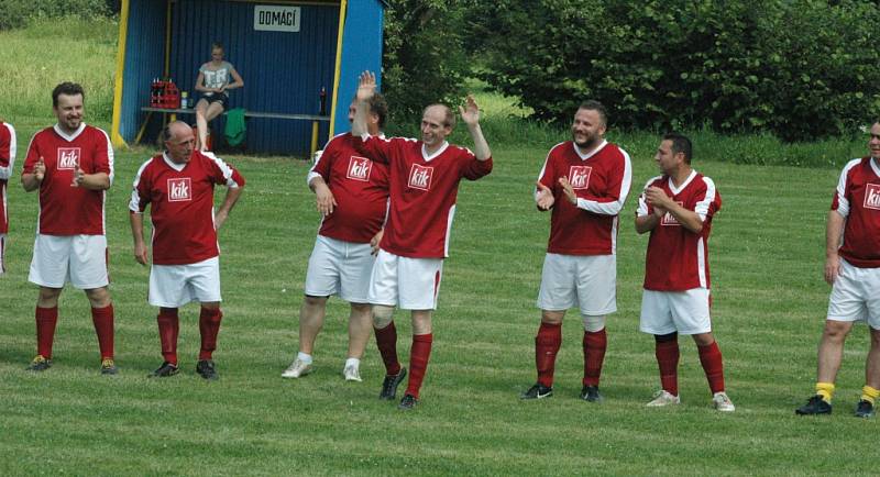
POLYGON ((722 207, 715 182, 691 167, 691 141, 667 134, 654 160, 661 176, 645 185, 636 232, 650 232, 639 329, 654 337, 662 389, 649 407, 678 404, 679 333, 696 343, 718 411, 736 408, 724 390, 724 366, 710 320, 708 235, 722 207))

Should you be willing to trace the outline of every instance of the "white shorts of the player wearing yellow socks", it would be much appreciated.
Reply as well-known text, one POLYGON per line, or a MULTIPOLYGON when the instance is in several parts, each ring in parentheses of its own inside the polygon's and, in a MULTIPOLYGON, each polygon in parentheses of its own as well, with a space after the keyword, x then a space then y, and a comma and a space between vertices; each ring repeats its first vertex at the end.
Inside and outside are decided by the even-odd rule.
POLYGON ((834 280, 827 319, 865 321, 880 330, 880 268, 859 268, 840 258, 840 276, 834 280))

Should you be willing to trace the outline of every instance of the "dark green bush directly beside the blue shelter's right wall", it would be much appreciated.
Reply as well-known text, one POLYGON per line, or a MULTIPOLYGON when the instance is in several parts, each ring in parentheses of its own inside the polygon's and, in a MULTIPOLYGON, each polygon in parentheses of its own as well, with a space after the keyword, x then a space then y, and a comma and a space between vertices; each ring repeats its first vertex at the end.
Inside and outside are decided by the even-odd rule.
POLYGON ((470 73, 461 21, 463 1, 393 0, 385 10, 382 90, 391 117, 417 121, 422 109, 459 104, 470 73))

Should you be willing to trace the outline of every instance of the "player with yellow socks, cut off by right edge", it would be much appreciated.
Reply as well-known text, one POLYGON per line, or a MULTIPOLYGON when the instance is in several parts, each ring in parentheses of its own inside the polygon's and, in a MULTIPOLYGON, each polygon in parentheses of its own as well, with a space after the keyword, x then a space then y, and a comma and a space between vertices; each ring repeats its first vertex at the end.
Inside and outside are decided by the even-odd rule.
POLYGON ((825 281, 832 285, 818 344, 816 393, 798 414, 829 414, 834 381, 853 323, 865 321, 871 348, 856 417, 871 418, 880 396, 880 121, 871 126, 869 155, 844 166, 825 235, 825 281))

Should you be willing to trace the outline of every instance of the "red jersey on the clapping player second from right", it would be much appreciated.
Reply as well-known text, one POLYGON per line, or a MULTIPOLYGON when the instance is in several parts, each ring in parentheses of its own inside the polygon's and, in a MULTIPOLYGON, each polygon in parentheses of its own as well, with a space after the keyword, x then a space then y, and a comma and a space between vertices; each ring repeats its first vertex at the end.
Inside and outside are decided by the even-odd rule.
MULTIPOLYGON (((658 176, 645 185, 663 189, 681 207, 696 212, 703 220, 703 230, 693 233, 667 212, 651 231, 645 259, 645 289, 656 291, 684 291, 710 288, 708 234, 712 218, 722 208, 722 197, 715 182, 692 170, 681 187, 672 186, 669 176, 658 176)), ((639 196, 638 217, 653 213, 653 207, 639 196)))

